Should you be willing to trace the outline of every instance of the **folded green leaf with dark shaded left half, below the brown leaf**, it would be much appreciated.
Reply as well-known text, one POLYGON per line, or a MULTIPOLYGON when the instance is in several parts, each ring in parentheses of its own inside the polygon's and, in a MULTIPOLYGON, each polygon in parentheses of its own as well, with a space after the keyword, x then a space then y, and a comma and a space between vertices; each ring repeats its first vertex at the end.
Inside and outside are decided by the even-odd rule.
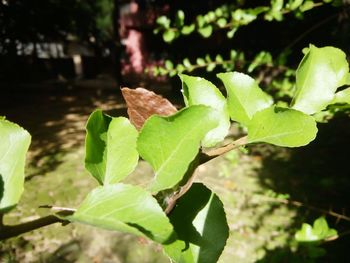
POLYGON ((100 184, 114 184, 136 167, 137 130, 128 119, 94 111, 86 125, 85 167, 100 184))

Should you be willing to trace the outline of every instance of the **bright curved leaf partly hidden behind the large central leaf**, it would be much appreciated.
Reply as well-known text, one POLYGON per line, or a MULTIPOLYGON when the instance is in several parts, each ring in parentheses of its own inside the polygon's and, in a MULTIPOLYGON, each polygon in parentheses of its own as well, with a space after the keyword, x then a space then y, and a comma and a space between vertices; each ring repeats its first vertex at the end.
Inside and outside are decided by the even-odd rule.
POLYGON ((180 78, 186 106, 202 104, 217 111, 219 125, 209 131, 202 141, 205 147, 215 146, 224 140, 230 128, 230 116, 225 97, 215 85, 203 78, 187 75, 180 75, 180 78))

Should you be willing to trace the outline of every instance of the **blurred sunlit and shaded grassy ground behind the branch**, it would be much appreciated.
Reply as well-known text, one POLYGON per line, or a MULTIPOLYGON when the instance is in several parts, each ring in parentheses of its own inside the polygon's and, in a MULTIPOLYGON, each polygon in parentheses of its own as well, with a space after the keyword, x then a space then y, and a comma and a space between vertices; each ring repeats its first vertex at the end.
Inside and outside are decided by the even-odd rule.
MULTIPOLYGON (((83 166, 89 114, 96 108, 113 116, 126 113, 117 89, 78 86, 49 91, 11 91, 0 105, 0 115, 32 134, 25 192, 18 207, 6 215, 6 223, 47 214, 38 209, 40 205, 76 207, 97 185, 83 166)), ((200 167, 198 180, 220 196, 230 225, 220 262, 293 262, 288 253, 296 229, 322 213, 288 206, 279 202, 278 194, 349 214, 350 174, 341 150, 349 140, 350 121, 340 116, 321 125, 319 139, 302 149, 254 146, 249 154, 237 150, 200 167)), ((140 162, 129 180, 139 183, 151 173, 140 162)), ((339 232, 350 229, 349 222, 327 219, 339 232)), ((329 253, 317 262, 347 262, 349 243, 349 236, 344 236, 326 244, 329 253)), ((78 224, 48 226, 2 245, 4 262, 169 262, 154 244, 78 224)))

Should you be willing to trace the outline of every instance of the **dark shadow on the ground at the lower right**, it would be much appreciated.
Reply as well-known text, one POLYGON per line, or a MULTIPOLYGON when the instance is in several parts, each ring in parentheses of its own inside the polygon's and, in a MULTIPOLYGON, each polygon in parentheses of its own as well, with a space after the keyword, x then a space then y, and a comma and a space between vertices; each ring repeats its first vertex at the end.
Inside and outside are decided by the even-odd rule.
MULTIPOLYGON (((260 184, 277 193, 288 193, 291 200, 305 204, 288 231, 295 232, 303 222, 312 223, 325 215, 340 237, 322 245, 327 254, 317 262, 348 262, 350 222, 325 211, 350 215, 350 119, 337 114, 329 123, 319 124, 317 139, 306 147, 281 149, 260 146, 252 149, 262 157, 257 170, 260 184), (322 211, 323 210, 323 211, 322 211), (342 235, 345 233, 345 235, 342 235), (347 233, 347 234, 346 234, 347 233)), ((261 262, 307 262, 305 252, 292 253, 289 247, 269 250, 261 262), (305 261, 302 261, 305 259, 305 261)))

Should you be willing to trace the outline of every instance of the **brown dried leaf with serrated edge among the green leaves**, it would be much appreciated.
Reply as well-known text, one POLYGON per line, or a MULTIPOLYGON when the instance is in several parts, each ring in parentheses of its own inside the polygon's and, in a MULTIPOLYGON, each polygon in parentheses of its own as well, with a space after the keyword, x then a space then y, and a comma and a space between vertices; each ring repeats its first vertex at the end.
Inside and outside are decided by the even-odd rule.
POLYGON ((138 130, 154 114, 169 116, 177 112, 171 102, 153 91, 143 88, 121 90, 128 107, 129 119, 138 130))

